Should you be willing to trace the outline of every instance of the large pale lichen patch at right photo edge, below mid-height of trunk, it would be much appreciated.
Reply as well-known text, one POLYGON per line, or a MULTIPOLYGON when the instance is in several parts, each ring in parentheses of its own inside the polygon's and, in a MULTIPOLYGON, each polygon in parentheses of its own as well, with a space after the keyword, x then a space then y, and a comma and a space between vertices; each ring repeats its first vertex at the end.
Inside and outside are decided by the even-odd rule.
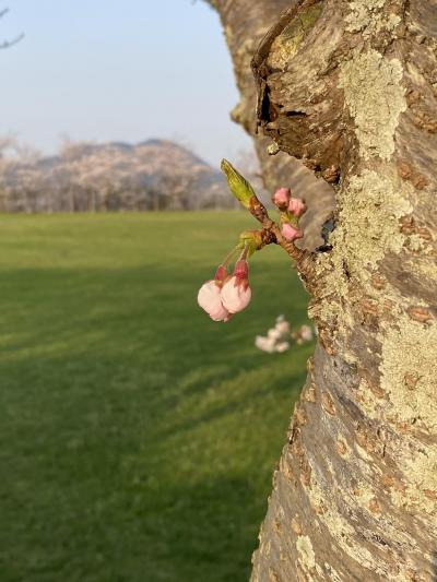
POLYGON ((382 351, 381 388, 389 396, 391 416, 435 429, 437 323, 423 324, 403 316, 395 326, 380 332, 378 340, 382 351))

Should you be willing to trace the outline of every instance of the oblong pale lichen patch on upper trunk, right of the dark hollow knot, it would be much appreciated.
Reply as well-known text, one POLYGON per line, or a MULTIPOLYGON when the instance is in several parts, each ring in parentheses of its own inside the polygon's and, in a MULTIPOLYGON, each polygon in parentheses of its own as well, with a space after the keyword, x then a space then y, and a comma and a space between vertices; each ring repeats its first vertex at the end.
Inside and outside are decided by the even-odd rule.
POLYGON ((394 152, 399 116, 406 109, 402 74, 399 59, 387 59, 376 50, 355 50, 341 67, 339 86, 344 90, 365 159, 390 159, 394 152))

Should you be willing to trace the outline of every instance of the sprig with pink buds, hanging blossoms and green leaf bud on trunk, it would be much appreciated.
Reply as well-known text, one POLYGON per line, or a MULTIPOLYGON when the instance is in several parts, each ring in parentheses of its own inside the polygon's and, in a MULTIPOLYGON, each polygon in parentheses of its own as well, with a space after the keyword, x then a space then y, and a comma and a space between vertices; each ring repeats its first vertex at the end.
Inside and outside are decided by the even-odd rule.
POLYGON ((298 219, 306 211, 303 200, 292 198, 288 188, 280 188, 273 195, 273 202, 281 212, 281 226, 279 226, 270 219, 250 183, 226 159, 222 162, 222 169, 235 198, 261 223, 262 229, 241 233, 239 244, 218 266, 214 278, 201 286, 198 304, 214 321, 229 321, 235 313, 249 305, 251 289, 247 259, 255 251, 271 242, 277 242, 295 258, 296 249, 287 244, 304 236, 298 227, 298 219), (229 275, 228 263, 237 251, 240 256, 235 263, 233 274, 229 275))

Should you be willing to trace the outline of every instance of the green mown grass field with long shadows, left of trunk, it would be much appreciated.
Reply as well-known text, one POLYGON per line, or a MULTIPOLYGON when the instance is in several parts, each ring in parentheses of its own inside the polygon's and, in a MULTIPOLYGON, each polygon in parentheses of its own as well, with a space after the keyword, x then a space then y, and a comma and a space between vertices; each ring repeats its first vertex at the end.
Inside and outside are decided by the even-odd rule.
POLYGON ((306 319, 287 257, 221 324, 196 295, 244 213, 0 223, 1 582, 247 580, 312 352, 253 346, 306 319))

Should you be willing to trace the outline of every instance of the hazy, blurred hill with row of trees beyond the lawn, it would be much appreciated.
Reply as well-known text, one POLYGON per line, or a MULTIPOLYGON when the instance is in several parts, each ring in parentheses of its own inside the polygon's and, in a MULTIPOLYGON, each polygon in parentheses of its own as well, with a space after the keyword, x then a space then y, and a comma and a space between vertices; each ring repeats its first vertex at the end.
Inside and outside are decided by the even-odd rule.
POLYGON ((10 212, 197 210, 235 205, 223 175, 177 143, 68 143, 32 162, 0 157, 10 212))

